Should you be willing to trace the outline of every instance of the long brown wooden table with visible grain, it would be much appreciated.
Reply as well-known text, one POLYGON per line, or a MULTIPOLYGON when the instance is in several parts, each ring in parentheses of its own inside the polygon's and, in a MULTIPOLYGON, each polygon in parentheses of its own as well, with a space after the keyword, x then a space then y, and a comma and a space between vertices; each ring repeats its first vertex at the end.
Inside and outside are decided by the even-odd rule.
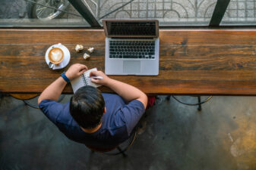
MULTIPOLYGON (((42 92, 68 69, 46 65, 47 48, 58 42, 71 52, 68 66, 104 70, 103 29, 0 29, 0 92, 42 92), (90 60, 74 51, 77 44, 96 49, 90 60)), ((255 44, 256 29, 162 29, 159 76, 111 77, 147 94, 256 95, 255 44)))

